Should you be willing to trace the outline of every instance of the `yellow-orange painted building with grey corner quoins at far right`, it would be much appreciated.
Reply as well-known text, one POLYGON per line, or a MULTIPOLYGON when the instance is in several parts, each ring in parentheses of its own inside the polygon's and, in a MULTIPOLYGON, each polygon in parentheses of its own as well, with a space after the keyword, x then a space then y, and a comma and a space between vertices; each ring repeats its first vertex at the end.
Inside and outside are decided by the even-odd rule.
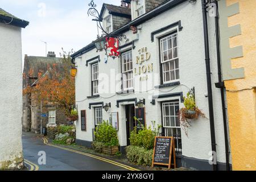
POLYGON ((220 39, 233 170, 256 170, 256 1, 221 0, 220 39))

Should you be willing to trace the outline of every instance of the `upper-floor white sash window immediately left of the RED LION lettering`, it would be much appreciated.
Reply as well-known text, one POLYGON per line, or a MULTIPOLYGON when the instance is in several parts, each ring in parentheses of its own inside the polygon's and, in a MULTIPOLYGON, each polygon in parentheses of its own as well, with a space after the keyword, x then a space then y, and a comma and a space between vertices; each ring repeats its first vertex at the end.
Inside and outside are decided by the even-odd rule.
POLYGON ((123 90, 133 89, 133 55, 132 51, 122 53, 123 90))

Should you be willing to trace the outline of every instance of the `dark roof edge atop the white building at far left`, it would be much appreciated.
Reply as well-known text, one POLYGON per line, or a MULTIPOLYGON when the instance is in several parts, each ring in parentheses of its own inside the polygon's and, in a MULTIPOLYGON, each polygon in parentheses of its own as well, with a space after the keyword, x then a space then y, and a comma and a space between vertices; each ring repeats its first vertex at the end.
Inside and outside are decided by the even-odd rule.
POLYGON ((29 22, 8 13, 7 11, 1 9, 0 7, 0 23, 11 24, 16 27, 25 28, 28 26, 29 22))

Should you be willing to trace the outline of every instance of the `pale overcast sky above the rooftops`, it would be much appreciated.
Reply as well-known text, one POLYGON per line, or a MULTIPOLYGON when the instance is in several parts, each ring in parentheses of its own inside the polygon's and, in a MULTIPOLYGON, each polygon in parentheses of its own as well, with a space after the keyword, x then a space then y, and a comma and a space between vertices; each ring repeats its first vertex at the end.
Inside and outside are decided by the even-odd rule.
MULTIPOLYGON (((121 5, 121 0, 104 0, 121 5)), ((78 51, 97 36, 96 23, 88 17, 90 0, 0 0, 0 7, 30 24, 22 30, 22 53, 28 56, 45 56, 61 47, 65 51, 78 51)), ((100 12, 102 1, 94 0, 100 12)))

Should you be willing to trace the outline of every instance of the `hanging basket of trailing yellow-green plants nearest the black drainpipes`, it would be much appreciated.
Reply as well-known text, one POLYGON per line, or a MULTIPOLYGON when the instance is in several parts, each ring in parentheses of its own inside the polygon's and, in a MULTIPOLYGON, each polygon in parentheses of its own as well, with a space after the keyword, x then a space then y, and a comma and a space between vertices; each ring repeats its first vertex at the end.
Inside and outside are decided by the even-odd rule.
POLYGON ((205 118, 205 114, 196 106, 194 89, 189 90, 187 97, 184 97, 184 106, 179 111, 179 119, 181 128, 188 136, 187 129, 191 126, 191 120, 198 119, 199 116, 205 118))

